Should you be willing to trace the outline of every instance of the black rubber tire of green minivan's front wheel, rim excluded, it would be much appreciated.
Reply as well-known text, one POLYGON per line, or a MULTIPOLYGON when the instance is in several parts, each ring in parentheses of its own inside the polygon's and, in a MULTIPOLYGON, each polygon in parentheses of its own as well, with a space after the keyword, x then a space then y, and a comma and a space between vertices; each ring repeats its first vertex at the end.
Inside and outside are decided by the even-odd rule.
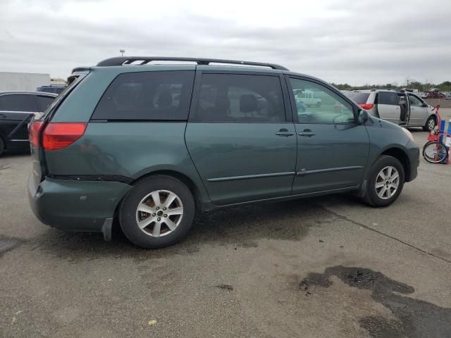
POLYGON ((388 206, 392 204, 398 196, 400 196, 402 192, 402 188, 404 187, 405 173, 404 167, 401 162, 394 158, 393 156, 381 156, 378 160, 373 164, 373 168, 371 168, 368 180, 368 186, 366 189, 366 201, 372 206, 388 206), (376 192, 376 179, 378 173, 387 166, 393 166, 396 168, 397 172, 400 174, 400 184, 397 188, 397 191, 390 199, 381 199, 376 192))

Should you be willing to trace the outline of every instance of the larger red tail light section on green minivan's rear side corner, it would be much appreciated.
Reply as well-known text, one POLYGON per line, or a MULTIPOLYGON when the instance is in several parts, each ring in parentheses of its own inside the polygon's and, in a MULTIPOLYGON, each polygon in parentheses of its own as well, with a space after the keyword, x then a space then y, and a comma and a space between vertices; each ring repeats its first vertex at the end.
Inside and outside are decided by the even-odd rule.
POLYGON ((42 135, 45 150, 58 150, 70 146, 83 136, 87 123, 49 123, 42 135))

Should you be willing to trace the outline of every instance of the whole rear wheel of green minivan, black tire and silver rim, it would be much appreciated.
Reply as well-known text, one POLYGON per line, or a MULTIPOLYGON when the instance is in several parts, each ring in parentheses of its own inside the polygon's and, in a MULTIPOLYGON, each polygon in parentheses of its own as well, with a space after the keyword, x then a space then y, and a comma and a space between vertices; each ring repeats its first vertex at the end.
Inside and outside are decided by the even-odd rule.
POLYGON ((144 249, 159 249, 185 237, 195 211, 194 198, 183 182, 171 176, 155 175, 142 180, 128 192, 121 202, 119 223, 133 244, 144 249), (168 202, 168 198, 173 201, 168 202), (156 199, 160 200, 159 204, 156 199), (145 211, 138 211, 138 206, 145 211))

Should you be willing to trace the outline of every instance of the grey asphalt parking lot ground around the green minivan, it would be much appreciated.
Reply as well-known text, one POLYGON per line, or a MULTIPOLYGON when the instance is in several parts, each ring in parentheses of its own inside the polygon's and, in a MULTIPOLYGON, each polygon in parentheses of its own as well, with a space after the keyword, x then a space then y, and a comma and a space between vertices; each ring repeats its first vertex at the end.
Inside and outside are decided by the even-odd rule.
POLYGON ((39 223, 30 166, 0 158, 0 337, 451 337, 450 165, 421 158, 388 208, 231 208, 156 251, 39 223))

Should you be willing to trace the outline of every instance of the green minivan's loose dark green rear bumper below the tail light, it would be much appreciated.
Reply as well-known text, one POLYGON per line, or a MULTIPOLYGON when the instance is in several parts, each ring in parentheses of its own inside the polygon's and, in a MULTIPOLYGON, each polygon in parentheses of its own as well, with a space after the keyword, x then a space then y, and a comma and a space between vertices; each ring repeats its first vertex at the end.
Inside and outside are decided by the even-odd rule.
POLYGON ((39 220, 70 231, 102 231, 106 218, 132 187, 120 182, 53 180, 39 185, 30 176, 28 198, 39 220))

